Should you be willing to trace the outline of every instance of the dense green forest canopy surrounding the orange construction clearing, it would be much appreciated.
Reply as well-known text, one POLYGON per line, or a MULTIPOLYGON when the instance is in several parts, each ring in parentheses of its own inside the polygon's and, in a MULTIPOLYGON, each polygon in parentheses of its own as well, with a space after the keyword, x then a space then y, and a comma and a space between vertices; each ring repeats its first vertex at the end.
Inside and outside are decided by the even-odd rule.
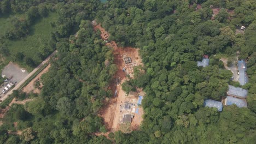
POLYGON ((14 93, 19 99, 36 100, 11 107, 0 127, 0 143, 256 141, 256 1, 4 0, 1 14, 27 15, 25 23, 19 22, 20 31, 10 29, 4 38, 26 37, 23 28, 44 16, 39 12, 44 6, 40 5, 58 15, 51 23, 55 28, 46 48, 59 52, 43 75, 44 87, 39 95, 14 93), (201 4, 200 9, 197 4, 201 4), (220 8, 214 20, 211 8, 220 8), (234 11, 230 14, 226 9, 234 11), (137 71, 135 79, 126 83, 146 92, 140 130, 110 133, 110 140, 94 133, 106 132, 97 112, 103 100, 112 97, 108 85, 117 67, 112 50, 104 45, 100 32, 92 29, 90 21, 94 19, 110 33, 109 40, 120 46, 139 47, 146 70, 137 71), (241 26, 246 26, 244 34, 235 34, 241 26), (237 51, 238 59, 248 59, 249 83, 243 86, 249 91, 248 107, 225 106, 223 112, 203 107, 205 99, 225 97, 228 85, 240 86, 230 80, 231 71, 219 61, 220 56, 236 57, 237 51), (201 61, 203 54, 210 55, 210 65, 197 67, 196 61, 201 61), (21 136, 8 134, 17 121, 16 129, 26 130, 21 136))

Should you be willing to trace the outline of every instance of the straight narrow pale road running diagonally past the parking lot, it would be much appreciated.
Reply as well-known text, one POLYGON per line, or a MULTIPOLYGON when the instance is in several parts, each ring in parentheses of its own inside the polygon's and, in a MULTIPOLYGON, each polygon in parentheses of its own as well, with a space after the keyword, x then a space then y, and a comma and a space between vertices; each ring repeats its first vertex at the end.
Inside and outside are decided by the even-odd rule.
MULTIPOLYGON (((18 83, 13 89, 11 89, 8 93, 3 95, 3 97, 0 98, 0 100, 4 101, 8 95, 11 95, 14 90, 18 89, 28 78, 30 78, 38 69, 40 69, 46 62, 50 60, 51 57, 53 57, 57 53, 57 50, 51 53, 49 57, 47 57, 42 63, 40 63, 37 68, 35 68, 30 74, 28 74, 20 83, 18 83)), ((1 102, 2 103, 2 102, 1 102)))

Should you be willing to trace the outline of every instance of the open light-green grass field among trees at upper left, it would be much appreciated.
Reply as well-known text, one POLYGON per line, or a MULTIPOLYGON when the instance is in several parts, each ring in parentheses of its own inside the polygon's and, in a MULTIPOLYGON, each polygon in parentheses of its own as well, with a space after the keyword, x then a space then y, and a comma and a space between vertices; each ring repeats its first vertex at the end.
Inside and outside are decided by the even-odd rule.
MULTIPOLYGON (((0 31, 4 33, 5 29, 10 25, 10 15, 9 17, 0 18, 0 31)), ((17 16, 17 15, 15 15, 17 16)), ((18 15, 21 17, 22 15, 18 15)), ((22 52, 25 57, 32 58, 36 64, 42 62, 42 59, 38 57, 40 51, 40 45, 45 44, 46 41, 50 39, 50 33, 54 30, 51 27, 50 22, 57 20, 57 13, 49 13, 48 17, 38 19, 31 27, 30 33, 18 40, 6 40, 8 49, 10 51, 10 56, 6 58, 7 61, 15 61, 15 55, 18 52, 22 52)), ((1 36, 1 35, 0 35, 1 36)), ((32 71, 33 68, 28 67, 25 62, 16 62, 21 67, 25 67, 28 71, 32 71)), ((1 69, 0 69, 1 70, 1 69)))

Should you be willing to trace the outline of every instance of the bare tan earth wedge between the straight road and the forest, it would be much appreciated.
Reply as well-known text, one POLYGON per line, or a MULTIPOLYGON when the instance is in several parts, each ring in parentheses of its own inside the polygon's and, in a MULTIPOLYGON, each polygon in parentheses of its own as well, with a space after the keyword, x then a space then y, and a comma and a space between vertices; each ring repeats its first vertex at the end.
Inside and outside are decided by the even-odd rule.
POLYGON ((27 86, 25 86, 25 87, 22 89, 22 91, 25 92, 25 93, 30 93, 30 92, 33 92, 33 93, 40 93, 40 89, 39 89, 39 88, 42 88, 42 87, 43 87, 42 83, 40 82, 41 76, 42 76, 44 73, 47 73, 50 67, 51 67, 51 65, 48 64, 45 69, 43 69, 36 77, 34 77, 33 80, 31 80, 30 83, 28 83, 27 86), (39 83, 40 83, 39 88, 34 86, 36 82, 39 82, 39 83))

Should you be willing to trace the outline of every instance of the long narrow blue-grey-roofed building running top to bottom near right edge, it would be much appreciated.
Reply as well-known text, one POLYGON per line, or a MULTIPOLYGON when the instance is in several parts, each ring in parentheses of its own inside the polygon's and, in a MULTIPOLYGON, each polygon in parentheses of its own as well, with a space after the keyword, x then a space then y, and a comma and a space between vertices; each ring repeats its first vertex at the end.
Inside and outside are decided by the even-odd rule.
POLYGON ((238 61, 237 68, 239 71, 238 81, 239 81, 240 85, 243 86, 246 83, 248 83, 248 81, 249 81, 248 75, 246 73, 246 62, 244 60, 238 61))

